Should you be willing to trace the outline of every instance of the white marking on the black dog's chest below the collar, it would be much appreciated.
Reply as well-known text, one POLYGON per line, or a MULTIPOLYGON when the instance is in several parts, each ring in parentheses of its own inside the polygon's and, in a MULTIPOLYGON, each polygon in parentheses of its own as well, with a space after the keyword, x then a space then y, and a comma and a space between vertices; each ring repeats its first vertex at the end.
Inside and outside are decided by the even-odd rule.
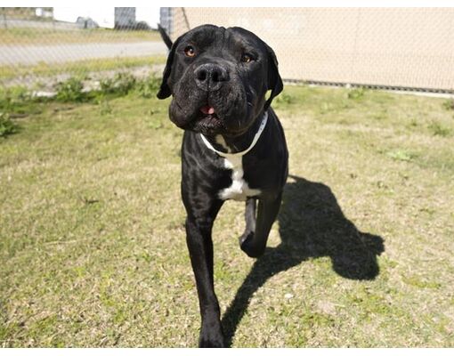
POLYGON ((247 197, 254 197, 260 194, 260 190, 251 189, 243 179, 243 158, 224 158, 224 167, 231 169, 231 186, 219 192, 219 198, 223 200, 246 200, 247 197))

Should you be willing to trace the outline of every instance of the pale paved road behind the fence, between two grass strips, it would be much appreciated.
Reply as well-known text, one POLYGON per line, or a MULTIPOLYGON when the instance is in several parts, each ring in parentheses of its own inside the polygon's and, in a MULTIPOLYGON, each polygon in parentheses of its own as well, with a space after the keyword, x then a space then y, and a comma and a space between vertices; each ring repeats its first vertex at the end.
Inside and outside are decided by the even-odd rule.
POLYGON ((162 42, 128 44, 54 44, 54 45, 0 45, 0 65, 61 63, 93 58, 141 57, 166 54, 162 42))

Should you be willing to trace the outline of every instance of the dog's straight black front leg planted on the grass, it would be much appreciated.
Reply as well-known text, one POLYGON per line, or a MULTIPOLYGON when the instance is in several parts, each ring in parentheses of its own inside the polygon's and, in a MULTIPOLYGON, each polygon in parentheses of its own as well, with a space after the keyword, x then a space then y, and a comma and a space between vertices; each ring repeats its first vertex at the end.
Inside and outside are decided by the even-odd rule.
MULTIPOLYGON (((220 206, 219 206, 220 207, 220 206)), ((216 212, 219 210, 216 206, 216 212)), ((219 303, 215 295, 213 277, 213 241, 211 230, 215 214, 207 212, 203 217, 189 214, 186 219, 186 242, 191 256, 192 270, 196 278, 202 326, 199 347, 224 347, 219 303)))

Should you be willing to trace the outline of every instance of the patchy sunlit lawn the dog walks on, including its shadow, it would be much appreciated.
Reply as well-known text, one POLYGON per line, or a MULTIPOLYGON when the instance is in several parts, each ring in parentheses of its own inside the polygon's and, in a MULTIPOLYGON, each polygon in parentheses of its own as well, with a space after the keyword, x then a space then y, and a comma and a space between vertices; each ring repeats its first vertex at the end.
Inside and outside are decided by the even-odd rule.
MULTIPOLYGON (((29 103, 20 130, 0 137, 0 344, 197 344, 182 132, 168 101, 138 93, 29 103)), ((227 202, 215 223, 232 346, 454 346, 443 102, 286 88, 274 106, 292 176, 266 254, 239 250, 243 204, 227 202)))

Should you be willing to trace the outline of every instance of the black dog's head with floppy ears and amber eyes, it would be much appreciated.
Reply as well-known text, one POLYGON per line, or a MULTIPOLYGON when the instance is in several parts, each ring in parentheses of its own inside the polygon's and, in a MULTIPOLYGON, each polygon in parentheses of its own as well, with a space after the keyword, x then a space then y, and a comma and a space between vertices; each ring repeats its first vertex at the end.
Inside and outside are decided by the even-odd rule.
POLYGON ((173 96, 169 116, 184 130, 237 136, 282 87, 276 55, 259 37, 244 28, 203 25, 172 45, 158 98, 173 96))

